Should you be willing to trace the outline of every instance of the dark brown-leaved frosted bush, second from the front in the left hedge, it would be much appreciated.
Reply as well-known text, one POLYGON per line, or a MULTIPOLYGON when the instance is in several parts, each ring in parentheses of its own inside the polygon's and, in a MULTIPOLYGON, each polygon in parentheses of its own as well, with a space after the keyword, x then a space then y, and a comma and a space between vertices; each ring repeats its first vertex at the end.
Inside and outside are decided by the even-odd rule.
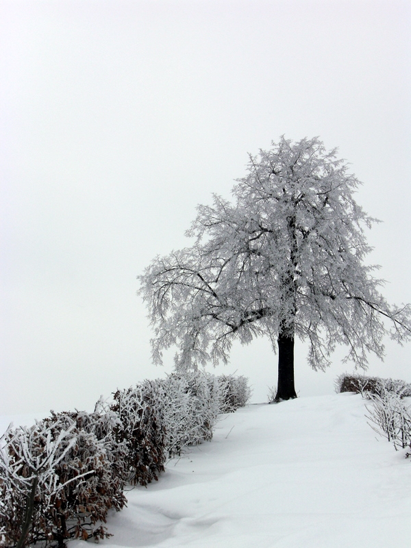
POLYGON ((127 481, 147 485, 164 471, 165 432, 157 401, 144 385, 117 390, 111 410, 121 421, 116 439, 127 446, 127 481))

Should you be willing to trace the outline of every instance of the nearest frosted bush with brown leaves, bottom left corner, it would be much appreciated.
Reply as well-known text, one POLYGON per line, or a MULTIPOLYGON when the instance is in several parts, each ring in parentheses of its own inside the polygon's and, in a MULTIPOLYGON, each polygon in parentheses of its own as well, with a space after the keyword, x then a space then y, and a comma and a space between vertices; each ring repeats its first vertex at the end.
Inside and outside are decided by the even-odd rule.
POLYGON ((32 427, 8 429, 2 441, 2 547, 39 541, 61 547, 68 538, 109 536, 102 523, 126 499, 105 440, 79 427, 75 416, 52 414, 32 427))

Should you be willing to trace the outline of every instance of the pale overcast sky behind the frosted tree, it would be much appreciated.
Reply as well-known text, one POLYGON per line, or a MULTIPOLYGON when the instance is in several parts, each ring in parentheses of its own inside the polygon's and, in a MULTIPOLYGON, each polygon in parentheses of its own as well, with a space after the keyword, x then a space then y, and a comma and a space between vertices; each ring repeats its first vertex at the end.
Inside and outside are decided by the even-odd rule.
MULTIPOLYGON (((189 244, 197 203, 229 197, 247 152, 320 136, 384 223, 369 242, 384 295, 410 302, 409 1, 0 0, 0 414, 92 408, 145 377, 136 275, 189 244)), ((330 393, 350 364, 313 373, 330 393)), ((411 382, 411 344, 370 374, 411 382)), ((269 342, 221 371, 276 383, 269 342)))

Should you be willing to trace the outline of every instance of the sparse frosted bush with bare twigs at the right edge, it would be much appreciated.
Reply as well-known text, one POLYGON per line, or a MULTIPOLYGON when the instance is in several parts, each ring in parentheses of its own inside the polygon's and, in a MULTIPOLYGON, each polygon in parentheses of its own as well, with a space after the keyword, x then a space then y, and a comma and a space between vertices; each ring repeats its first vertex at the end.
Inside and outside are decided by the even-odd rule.
POLYGON ((395 449, 405 449, 411 443, 411 406, 406 400, 389 390, 379 394, 369 393, 372 407, 367 406, 370 426, 379 434, 380 430, 393 442, 395 449))

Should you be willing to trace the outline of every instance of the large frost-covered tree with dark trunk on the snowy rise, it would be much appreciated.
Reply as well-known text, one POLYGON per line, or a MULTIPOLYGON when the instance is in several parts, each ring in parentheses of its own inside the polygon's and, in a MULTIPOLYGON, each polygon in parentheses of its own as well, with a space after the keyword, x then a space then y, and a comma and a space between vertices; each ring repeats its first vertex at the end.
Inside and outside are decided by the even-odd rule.
POLYGON ((364 227, 375 221, 353 199, 360 182, 317 139, 281 138, 250 155, 234 201, 198 206, 191 247, 157 257, 139 277, 154 337, 153 360, 176 345, 177 368, 227 362, 232 342, 268 336, 278 349, 277 401, 296 397, 295 336, 325 369, 337 344, 365 368, 382 339, 411 335, 410 306, 380 294, 364 227))

